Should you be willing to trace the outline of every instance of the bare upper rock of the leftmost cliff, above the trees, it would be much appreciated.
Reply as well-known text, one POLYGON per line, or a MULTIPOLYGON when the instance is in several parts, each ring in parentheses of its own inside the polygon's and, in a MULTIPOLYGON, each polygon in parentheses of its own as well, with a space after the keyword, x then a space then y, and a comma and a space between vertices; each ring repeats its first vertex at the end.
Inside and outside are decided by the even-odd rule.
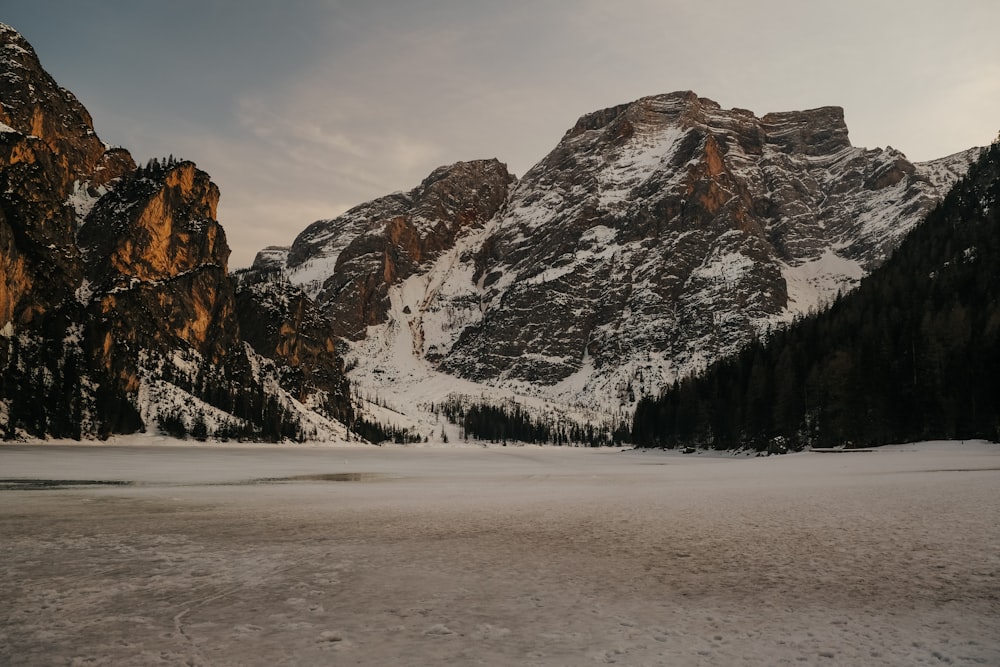
POLYGON ((30 322, 79 287, 75 204, 135 164, 97 138, 86 109, 2 24, 0 71, 0 320, 30 322), (46 276, 45 289, 35 288, 36 275, 46 276))

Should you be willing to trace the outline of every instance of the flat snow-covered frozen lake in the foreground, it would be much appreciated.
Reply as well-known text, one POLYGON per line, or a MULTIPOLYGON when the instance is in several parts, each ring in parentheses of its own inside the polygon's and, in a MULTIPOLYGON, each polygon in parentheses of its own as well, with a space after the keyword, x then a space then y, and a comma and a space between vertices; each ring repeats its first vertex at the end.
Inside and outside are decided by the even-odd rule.
POLYGON ((3 445, 0 477, 0 664, 1000 664, 1000 446, 982 442, 146 437, 3 445))

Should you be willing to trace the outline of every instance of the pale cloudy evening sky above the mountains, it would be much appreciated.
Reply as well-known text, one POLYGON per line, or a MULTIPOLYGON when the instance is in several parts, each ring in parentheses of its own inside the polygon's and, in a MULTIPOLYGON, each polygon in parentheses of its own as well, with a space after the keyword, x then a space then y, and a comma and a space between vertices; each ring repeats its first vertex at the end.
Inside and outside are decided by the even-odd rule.
POLYGON ((212 176, 233 268, 440 165, 520 176, 647 95, 837 105, 855 146, 914 161, 1000 130, 996 0, 4 0, 0 21, 105 142, 212 176))

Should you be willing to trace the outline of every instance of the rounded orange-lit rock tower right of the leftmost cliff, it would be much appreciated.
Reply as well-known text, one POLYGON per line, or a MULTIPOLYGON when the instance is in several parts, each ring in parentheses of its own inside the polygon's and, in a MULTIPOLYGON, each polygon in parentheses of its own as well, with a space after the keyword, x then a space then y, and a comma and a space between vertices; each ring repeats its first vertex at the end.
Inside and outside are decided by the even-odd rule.
POLYGON ((193 163, 157 164, 101 197, 79 230, 100 363, 128 392, 139 388, 137 350, 180 343, 211 364, 242 353, 218 200, 193 163))

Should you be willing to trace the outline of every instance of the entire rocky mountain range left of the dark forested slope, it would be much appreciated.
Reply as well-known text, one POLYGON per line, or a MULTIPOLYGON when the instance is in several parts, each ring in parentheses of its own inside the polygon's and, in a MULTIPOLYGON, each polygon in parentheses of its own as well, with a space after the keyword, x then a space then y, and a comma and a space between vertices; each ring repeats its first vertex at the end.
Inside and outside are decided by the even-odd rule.
POLYGON ((978 150, 691 92, 587 114, 521 178, 434 170, 230 274, 194 163, 137 166, 0 27, 5 437, 461 437, 440 406, 620 428, 882 265, 978 150), (6 345, 4 345, 4 341, 6 345))

